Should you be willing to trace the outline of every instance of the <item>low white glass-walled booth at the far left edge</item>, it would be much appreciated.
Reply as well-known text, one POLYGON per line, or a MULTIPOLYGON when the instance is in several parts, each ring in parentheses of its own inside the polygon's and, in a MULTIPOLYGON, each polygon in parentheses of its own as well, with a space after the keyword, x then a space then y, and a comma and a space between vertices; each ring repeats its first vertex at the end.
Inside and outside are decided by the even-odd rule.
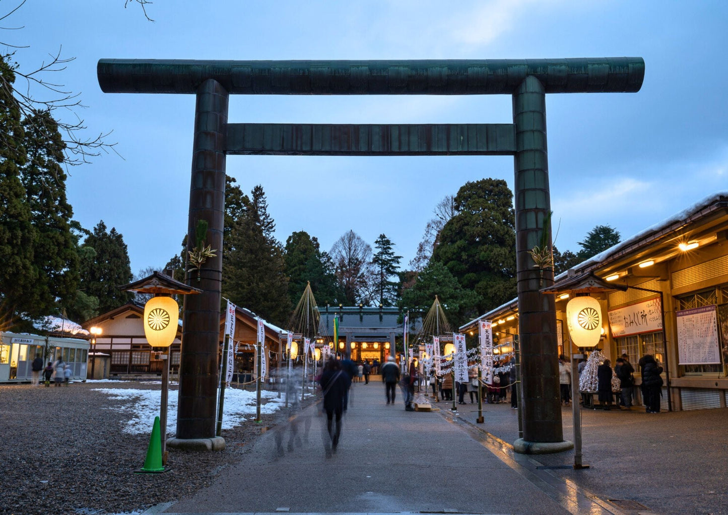
POLYGON ((86 380, 89 351, 86 340, 17 333, 0 333, 0 337, 0 382, 30 381, 31 363, 36 355, 43 358, 43 366, 60 356, 71 365, 71 380, 86 380))

